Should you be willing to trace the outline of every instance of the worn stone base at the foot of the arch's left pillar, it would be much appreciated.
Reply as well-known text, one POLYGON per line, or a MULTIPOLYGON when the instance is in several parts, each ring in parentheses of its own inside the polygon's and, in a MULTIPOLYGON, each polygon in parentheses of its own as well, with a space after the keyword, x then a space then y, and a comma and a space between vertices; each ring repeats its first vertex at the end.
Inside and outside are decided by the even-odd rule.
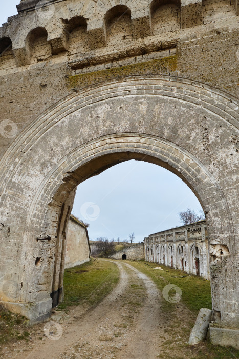
POLYGON ((25 316, 29 320, 30 325, 47 320, 51 317, 52 313, 52 298, 36 303, 0 301, 0 304, 13 313, 25 316))

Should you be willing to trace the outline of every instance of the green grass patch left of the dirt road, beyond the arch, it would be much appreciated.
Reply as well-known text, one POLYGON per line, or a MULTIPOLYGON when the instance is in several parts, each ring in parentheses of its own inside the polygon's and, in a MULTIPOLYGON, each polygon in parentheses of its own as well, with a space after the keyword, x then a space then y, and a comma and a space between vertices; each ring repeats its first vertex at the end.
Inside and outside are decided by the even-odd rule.
POLYGON ((58 309, 86 302, 99 304, 119 280, 118 267, 108 261, 91 260, 64 271, 64 301, 58 309))

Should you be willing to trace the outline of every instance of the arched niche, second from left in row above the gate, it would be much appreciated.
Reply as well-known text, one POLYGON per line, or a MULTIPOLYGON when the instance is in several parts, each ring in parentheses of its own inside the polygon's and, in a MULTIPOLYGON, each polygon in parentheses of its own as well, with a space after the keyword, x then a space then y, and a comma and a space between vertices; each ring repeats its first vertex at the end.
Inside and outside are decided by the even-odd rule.
POLYGON ((47 30, 42 27, 35 28, 28 34, 26 48, 31 63, 44 61, 52 56, 52 47, 47 38, 47 30))

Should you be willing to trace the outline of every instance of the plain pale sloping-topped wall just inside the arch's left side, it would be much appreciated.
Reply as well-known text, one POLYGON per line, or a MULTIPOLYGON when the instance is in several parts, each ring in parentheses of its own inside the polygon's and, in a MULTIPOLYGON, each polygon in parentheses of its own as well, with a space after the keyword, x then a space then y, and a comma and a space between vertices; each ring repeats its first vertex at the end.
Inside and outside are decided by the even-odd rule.
POLYGON ((90 244, 87 228, 70 216, 67 230, 64 268, 78 266, 90 260, 90 244))

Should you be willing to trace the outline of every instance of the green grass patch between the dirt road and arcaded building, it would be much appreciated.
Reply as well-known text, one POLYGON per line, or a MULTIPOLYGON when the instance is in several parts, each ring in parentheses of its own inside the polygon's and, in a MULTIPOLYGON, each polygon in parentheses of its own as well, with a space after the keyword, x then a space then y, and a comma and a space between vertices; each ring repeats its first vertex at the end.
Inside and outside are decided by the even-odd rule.
MULTIPOLYGON (((162 264, 160 264, 160 267, 163 270, 154 269, 158 266, 157 263, 134 261, 130 262, 130 264, 152 278, 161 291, 169 283, 180 287, 182 290, 181 301, 192 312, 198 313, 203 307, 212 308, 210 281, 196 275, 189 276, 181 270, 172 269, 162 264)), ((165 309, 173 309, 175 306, 173 303, 164 302, 165 309)))

